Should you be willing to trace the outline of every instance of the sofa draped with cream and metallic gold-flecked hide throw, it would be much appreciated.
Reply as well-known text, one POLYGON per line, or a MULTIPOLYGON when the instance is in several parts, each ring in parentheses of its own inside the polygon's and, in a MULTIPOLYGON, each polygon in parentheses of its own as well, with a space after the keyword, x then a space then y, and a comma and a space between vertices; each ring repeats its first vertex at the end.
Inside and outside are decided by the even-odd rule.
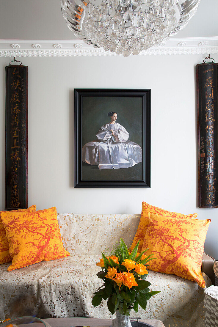
MULTIPOLYGON (((102 284, 96 262, 101 251, 112 249, 120 237, 131 244, 140 214, 58 214, 64 247, 69 257, 41 262, 8 272, 0 266, 0 320, 18 316, 39 318, 114 318, 107 303, 91 305, 93 292, 102 284)), ((211 285, 213 259, 205 255, 202 264, 206 287, 211 285), (209 278, 210 277, 210 278, 209 278)), ((151 290, 161 292, 131 317, 160 319, 166 327, 204 327, 204 289, 197 283, 149 270, 151 290)))

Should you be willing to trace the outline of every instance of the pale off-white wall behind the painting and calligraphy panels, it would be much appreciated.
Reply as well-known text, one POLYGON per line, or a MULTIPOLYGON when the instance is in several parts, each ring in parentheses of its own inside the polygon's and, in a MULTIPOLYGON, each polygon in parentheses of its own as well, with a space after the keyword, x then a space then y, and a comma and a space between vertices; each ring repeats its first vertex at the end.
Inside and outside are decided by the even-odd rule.
MULTIPOLYGON (((218 258, 218 209, 197 207, 195 65, 203 58, 22 58, 29 70, 29 205, 57 206, 58 212, 139 213, 146 201, 185 214, 197 212, 199 219, 211 219, 205 247, 218 258), (151 88, 150 189, 73 188, 74 88, 151 88)), ((0 58, 0 210, 9 61, 0 58)))

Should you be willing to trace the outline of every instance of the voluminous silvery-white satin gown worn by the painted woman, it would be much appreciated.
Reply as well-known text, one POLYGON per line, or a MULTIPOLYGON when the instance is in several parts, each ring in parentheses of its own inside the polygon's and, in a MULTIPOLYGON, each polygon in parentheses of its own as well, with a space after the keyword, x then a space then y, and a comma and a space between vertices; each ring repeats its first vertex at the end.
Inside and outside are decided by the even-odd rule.
POLYGON ((118 123, 105 124, 96 134, 97 140, 82 147, 82 161, 99 169, 119 169, 142 161, 142 149, 129 141, 129 133, 118 123), (115 136, 112 135, 112 131, 115 136))

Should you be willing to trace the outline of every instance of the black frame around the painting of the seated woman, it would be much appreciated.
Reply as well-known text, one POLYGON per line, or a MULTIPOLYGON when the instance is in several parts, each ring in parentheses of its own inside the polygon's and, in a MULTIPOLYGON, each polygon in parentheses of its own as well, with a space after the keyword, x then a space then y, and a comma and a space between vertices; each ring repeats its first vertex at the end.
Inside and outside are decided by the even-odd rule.
POLYGON ((74 90, 74 187, 150 188, 151 187, 151 89, 75 89, 74 90), (142 179, 82 180, 82 102, 83 97, 142 98, 142 179))

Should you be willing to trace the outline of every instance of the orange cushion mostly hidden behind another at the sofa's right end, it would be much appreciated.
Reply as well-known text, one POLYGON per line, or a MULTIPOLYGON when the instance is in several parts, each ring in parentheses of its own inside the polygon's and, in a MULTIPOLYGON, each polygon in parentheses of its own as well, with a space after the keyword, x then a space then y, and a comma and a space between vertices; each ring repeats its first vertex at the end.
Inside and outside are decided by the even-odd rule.
POLYGON ((141 218, 138 224, 136 235, 133 240, 133 244, 131 245, 130 248, 131 251, 135 248, 136 244, 139 241, 138 252, 141 252, 144 237, 145 237, 145 232, 149 224, 149 219, 148 219, 149 212, 153 214, 158 214, 160 216, 168 216, 168 217, 180 218, 180 219, 190 219, 190 218, 194 219, 197 217, 197 214, 183 215, 177 212, 167 211, 161 208, 154 207, 153 205, 150 205, 146 202, 142 202, 141 218))

